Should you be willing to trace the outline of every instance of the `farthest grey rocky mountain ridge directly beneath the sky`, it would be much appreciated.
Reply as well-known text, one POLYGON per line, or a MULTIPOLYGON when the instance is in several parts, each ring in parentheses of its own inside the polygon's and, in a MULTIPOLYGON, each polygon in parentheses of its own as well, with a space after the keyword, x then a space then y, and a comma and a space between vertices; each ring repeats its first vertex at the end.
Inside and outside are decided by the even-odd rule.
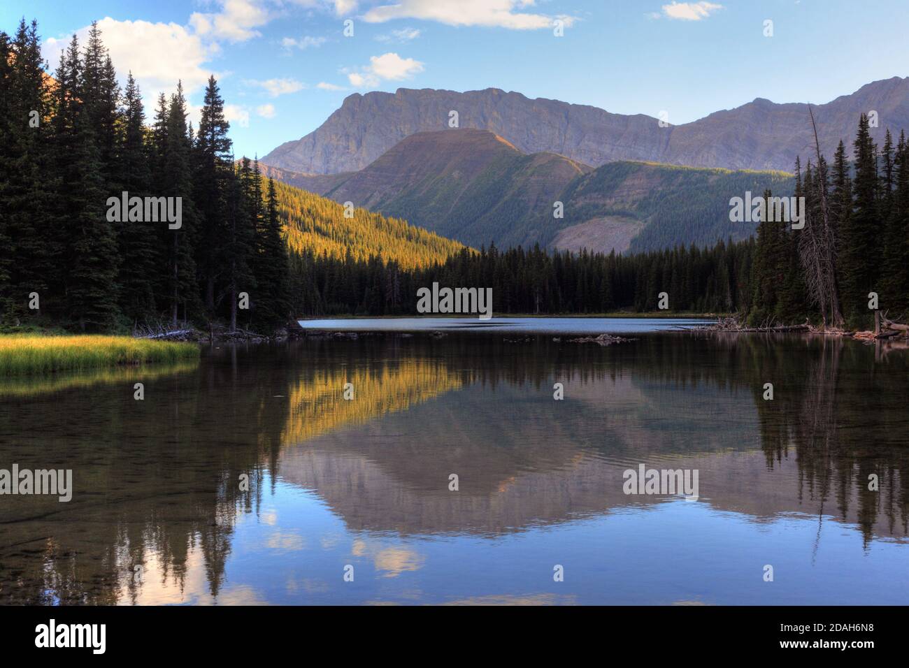
MULTIPOLYGON (((909 127, 909 78, 894 76, 814 105, 824 155, 854 135, 859 114, 877 112, 875 141, 884 129, 909 127)), ((262 162, 307 174, 355 172, 409 135, 443 130, 449 112, 462 128, 489 130, 527 154, 551 152, 584 165, 619 160, 668 165, 789 171, 796 155, 814 154, 807 105, 754 102, 692 123, 660 127, 648 115, 611 114, 589 105, 528 99, 497 88, 458 93, 399 88, 345 98, 309 135, 286 142, 262 162)), ((671 116, 670 116, 671 120, 671 116)))

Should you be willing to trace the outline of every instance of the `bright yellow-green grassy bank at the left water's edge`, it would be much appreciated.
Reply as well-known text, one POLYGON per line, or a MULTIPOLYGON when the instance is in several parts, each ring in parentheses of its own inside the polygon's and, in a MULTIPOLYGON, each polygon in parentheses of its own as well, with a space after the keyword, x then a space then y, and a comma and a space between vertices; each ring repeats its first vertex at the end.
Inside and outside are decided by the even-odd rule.
POLYGON ((197 359, 195 344, 130 336, 0 335, 0 375, 96 369, 121 364, 174 364, 197 359))

